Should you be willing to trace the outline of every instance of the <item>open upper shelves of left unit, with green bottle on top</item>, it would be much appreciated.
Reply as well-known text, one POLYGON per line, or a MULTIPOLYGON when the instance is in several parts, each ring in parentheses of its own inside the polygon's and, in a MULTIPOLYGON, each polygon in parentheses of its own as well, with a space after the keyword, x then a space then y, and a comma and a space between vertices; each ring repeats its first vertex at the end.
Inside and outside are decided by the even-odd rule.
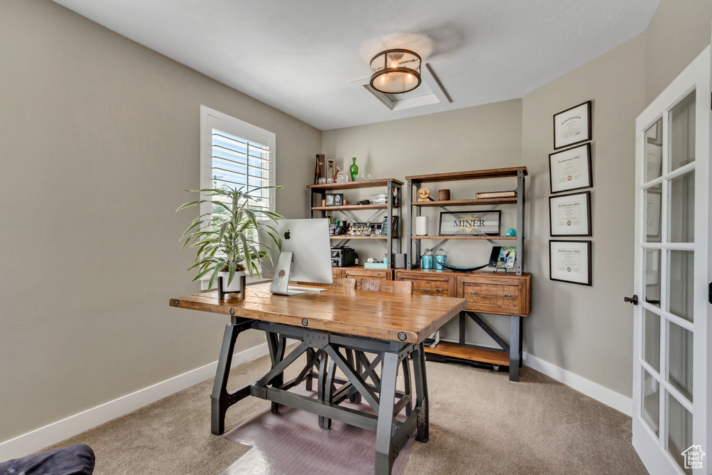
POLYGON ((315 212, 321 213, 323 217, 326 217, 327 213, 339 212, 350 219, 351 222, 358 221, 373 221, 376 216, 381 219, 383 217, 383 212, 387 217, 388 234, 386 236, 330 236, 332 241, 337 241, 335 245, 344 244, 352 239, 367 239, 375 240, 384 245, 386 248, 386 254, 388 258, 388 269, 393 266, 393 254, 399 253, 401 251, 401 240, 399 236, 402 234, 399 232, 398 228, 402 226, 402 187, 403 182, 394 178, 383 178, 383 179, 370 179, 361 182, 345 182, 345 183, 325 183, 325 184, 308 184, 307 189, 309 190, 309 216, 314 217, 315 212), (342 192, 350 189, 360 189, 360 188, 381 188, 383 187, 386 191, 386 196, 389 199, 394 200, 392 204, 345 204, 342 206, 321 206, 322 200, 326 199, 326 195, 329 192, 342 192), (315 200, 317 201, 315 203, 315 200), (358 219, 354 212, 362 211, 375 211, 370 217, 365 219, 358 219), (395 233, 393 232, 391 223, 393 222, 393 217, 398 217, 397 227, 395 233))

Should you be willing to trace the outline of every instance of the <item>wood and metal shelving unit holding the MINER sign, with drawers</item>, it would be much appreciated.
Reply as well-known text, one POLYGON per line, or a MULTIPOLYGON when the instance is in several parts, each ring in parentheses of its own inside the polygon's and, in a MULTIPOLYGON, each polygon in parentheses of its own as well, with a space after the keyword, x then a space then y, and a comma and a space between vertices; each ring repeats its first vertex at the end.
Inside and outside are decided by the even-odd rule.
MULTIPOLYGON (((498 307, 499 304, 494 303, 494 301, 487 301, 488 298, 508 298, 509 295, 498 296, 498 293, 509 293, 508 291, 497 291, 498 288, 513 288, 515 284, 514 281, 506 282, 506 274, 497 274, 491 276, 484 276, 478 273, 452 273, 450 271, 444 271, 441 276, 436 276, 435 274, 430 274, 425 270, 422 270, 422 275, 414 274, 412 271, 421 271, 420 267, 420 249, 421 243, 424 240, 440 241, 435 244, 433 249, 439 248, 444 242, 449 239, 471 239, 473 241, 515 241, 513 243, 517 248, 517 254, 515 259, 514 271, 518 278, 530 279, 530 276, 523 276, 523 262, 524 262, 524 190, 525 190, 525 176, 527 175, 526 167, 510 167, 510 168, 495 168, 495 169, 483 169, 483 170, 472 170, 470 172, 449 172, 449 173, 436 173, 436 174, 423 174, 423 175, 412 175, 406 177, 407 179, 407 201, 410 204, 409 212, 409 223, 405 226, 405 244, 407 249, 407 269, 408 271, 403 271, 403 278, 406 280, 416 280, 419 282, 419 287, 423 288, 423 291, 428 291, 430 287, 433 286, 443 286, 444 283, 432 283, 426 286, 429 280, 434 281, 438 279, 442 281, 445 277, 450 276, 451 282, 448 284, 448 292, 451 296, 459 296, 468 298, 468 308, 464 310, 459 318, 459 343, 448 343, 439 342, 434 348, 425 348, 426 354, 429 359, 439 360, 439 361, 461 361, 461 362, 479 362, 486 365, 493 365, 493 367, 508 366, 509 367, 509 377, 510 380, 519 380, 519 366, 521 365, 521 345, 522 345, 522 316, 528 314, 528 306, 526 307, 526 313, 519 313, 511 315, 512 310, 506 307, 498 307), (483 199, 453 199, 448 201, 413 201, 414 197, 417 197, 418 190, 422 187, 424 183, 438 183, 438 182, 455 182, 464 180, 476 180, 476 179, 493 179, 493 178, 515 178, 517 180, 516 185, 516 197, 507 198, 483 198, 483 199), (414 236, 413 227, 415 218, 421 215, 422 209, 429 207, 440 207, 442 209, 447 209, 449 207, 478 207, 488 205, 490 207, 498 207, 499 205, 515 205, 517 212, 517 235, 516 236, 414 236), (456 274, 456 275, 454 275, 456 274), (457 288, 453 288, 454 281, 457 281, 457 288), (475 281, 475 282, 473 282, 475 281), (462 282, 462 283, 460 283, 462 282), (470 287, 467 287, 470 286, 470 287), (484 286, 483 290, 477 288, 477 290, 472 290, 473 286, 484 286), (510 287, 506 287, 510 286, 510 287), (491 289, 491 290, 490 290, 491 289), (491 296, 491 297, 488 297, 491 296), (476 302, 478 298, 485 299, 485 304, 482 302, 476 302), (475 313, 493 313, 496 315, 508 315, 511 318, 511 338, 510 343, 507 344, 504 340, 497 335, 494 330, 488 327, 488 325, 475 313), (469 317, 469 318, 468 318, 469 317), (494 341, 500 348, 482 348, 473 345, 467 345, 465 343, 465 328, 467 320, 474 320, 494 341)), ((494 244, 494 243, 493 243, 494 244)), ((443 281, 444 282, 444 281, 443 281)), ((443 289, 444 291, 444 289, 443 289)), ((528 290, 527 290, 528 292, 528 290)), ((530 293, 522 298, 530 298, 530 293)), ((528 301, 526 302, 528 304, 528 301)))

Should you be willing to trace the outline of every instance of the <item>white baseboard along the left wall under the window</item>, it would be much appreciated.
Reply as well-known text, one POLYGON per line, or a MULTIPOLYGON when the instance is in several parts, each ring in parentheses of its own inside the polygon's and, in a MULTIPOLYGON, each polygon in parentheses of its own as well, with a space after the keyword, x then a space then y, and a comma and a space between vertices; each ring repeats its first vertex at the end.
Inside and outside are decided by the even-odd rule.
MULTIPOLYGON (((248 348, 247 350, 234 354, 232 367, 241 365, 244 362, 256 360, 258 357, 268 354, 267 343, 248 348)), ((27 432, 14 439, 1 442, 0 461, 26 456, 33 451, 61 442, 64 439, 68 439, 85 430, 96 427, 99 424, 108 422, 111 419, 116 419, 124 414, 140 409, 147 404, 151 404, 178 391, 182 391, 187 387, 197 385, 199 382, 214 377, 217 365, 218 362, 211 362, 209 365, 184 372, 182 375, 157 382, 155 385, 105 402, 97 407, 92 407, 73 416, 48 424, 45 427, 27 432)))

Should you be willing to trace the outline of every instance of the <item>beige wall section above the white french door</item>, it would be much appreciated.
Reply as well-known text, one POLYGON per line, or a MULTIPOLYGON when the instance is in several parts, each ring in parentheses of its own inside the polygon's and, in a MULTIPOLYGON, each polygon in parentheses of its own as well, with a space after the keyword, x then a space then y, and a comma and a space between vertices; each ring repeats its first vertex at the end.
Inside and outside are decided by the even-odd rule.
POLYGON ((712 1, 662 0, 645 32, 646 104, 710 43, 712 1))

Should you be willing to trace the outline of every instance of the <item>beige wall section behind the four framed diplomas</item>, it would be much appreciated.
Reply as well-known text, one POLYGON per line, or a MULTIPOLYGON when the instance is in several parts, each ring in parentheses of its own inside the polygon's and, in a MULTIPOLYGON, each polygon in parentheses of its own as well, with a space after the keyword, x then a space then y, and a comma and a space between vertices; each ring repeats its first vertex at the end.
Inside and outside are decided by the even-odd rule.
MULTIPOLYGON (((630 397, 633 315, 635 118, 645 107, 645 42, 637 36, 522 99, 528 255, 534 274, 525 351, 630 397), (552 115, 592 100, 593 286, 549 279, 548 154, 552 115)), ((558 238, 567 239, 567 238, 558 238)))

